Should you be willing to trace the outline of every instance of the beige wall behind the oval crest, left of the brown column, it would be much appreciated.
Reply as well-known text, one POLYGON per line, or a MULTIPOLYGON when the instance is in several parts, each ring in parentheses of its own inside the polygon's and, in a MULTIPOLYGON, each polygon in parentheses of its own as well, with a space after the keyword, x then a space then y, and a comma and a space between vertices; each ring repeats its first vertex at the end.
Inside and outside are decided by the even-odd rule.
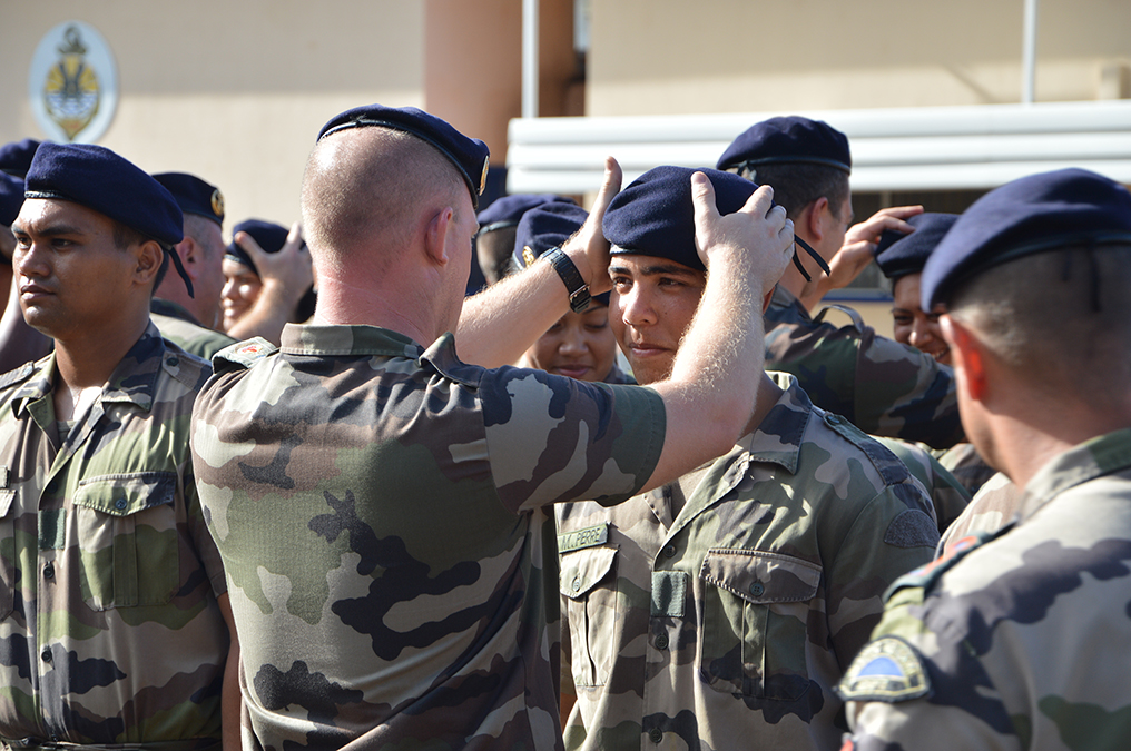
POLYGON ((119 109, 98 143, 219 185, 225 230, 297 218, 307 155, 337 112, 424 104, 421 0, 3 0, 2 18, 0 143, 43 138, 27 104, 32 55, 51 27, 86 21, 118 61, 119 109))

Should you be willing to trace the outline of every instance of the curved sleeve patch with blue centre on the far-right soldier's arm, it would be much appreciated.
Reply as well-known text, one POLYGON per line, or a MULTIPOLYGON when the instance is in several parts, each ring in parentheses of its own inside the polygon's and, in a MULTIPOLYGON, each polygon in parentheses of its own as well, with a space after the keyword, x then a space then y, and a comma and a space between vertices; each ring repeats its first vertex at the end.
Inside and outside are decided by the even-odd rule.
POLYGON ((923 658, 899 637, 864 645, 835 689, 845 701, 907 701, 931 696, 923 658))

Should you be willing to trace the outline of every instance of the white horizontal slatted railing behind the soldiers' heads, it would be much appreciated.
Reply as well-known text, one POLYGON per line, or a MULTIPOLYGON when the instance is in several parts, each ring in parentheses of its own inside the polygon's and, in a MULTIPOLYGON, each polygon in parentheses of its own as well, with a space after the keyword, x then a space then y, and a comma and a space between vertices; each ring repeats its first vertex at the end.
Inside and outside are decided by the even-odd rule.
MULTIPOLYGON (((625 183, 661 164, 714 166, 740 132, 777 112, 510 121, 507 190, 585 193, 606 155, 625 183)), ((800 112, 852 141, 854 191, 987 189, 1080 166, 1131 183, 1131 102, 800 112)))

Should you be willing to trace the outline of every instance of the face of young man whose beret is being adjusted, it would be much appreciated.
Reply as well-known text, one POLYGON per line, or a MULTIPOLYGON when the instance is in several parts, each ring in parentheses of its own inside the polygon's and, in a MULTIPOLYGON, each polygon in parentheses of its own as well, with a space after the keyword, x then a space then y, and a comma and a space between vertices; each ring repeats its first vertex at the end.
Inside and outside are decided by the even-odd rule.
POLYGON ((655 256, 613 256, 608 320, 640 383, 667 378, 707 284, 702 271, 655 256))

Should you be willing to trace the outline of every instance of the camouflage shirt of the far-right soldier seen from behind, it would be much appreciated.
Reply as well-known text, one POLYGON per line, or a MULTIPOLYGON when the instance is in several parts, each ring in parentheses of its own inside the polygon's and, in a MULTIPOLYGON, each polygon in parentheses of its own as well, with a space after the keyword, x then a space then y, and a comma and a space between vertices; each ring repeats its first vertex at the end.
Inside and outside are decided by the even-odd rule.
POLYGON ((1054 458, 985 537, 893 587, 838 689, 846 748, 1131 749, 1131 430, 1054 458))

